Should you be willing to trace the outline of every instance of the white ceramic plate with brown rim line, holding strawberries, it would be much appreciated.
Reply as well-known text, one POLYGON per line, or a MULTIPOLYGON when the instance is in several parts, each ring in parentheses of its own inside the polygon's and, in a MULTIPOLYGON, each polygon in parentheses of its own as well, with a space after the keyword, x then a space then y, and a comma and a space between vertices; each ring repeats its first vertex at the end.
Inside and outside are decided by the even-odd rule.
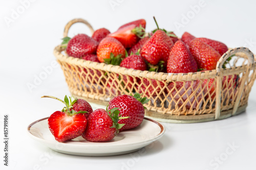
POLYGON ((79 156, 113 156, 135 152, 159 139, 165 132, 160 123, 145 117, 140 126, 122 131, 108 142, 89 142, 81 136, 70 141, 58 142, 51 134, 47 121, 48 117, 30 124, 30 137, 54 151, 79 156))

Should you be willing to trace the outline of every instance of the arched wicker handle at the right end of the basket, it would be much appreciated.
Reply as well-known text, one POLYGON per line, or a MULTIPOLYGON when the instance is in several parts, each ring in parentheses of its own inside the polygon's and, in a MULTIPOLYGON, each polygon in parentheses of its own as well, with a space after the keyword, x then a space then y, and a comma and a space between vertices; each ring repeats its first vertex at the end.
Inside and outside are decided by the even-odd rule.
MULTIPOLYGON (((233 48, 232 50, 227 51, 225 54, 223 54, 221 56, 221 58, 219 59, 217 66, 216 66, 216 72, 217 72, 217 85, 216 85, 216 96, 219 96, 218 98, 216 98, 216 111, 215 111, 215 119, 218 119, 220 117, 220 110, 221 110, 221 99, 220 99, 220 95, 221 95, 221 88, 222 88, 222 66, 224 64, 224 62, 227 60, 228 57, 237 54, 237 53, 244 53, 247 56, 247 60, 248 60, 248 67, 247 67, 247 71, 246 74, 244 75, 244 77, 248 77, 249 76, 249 66, 254 63, 254 55, 253 53, 246 47, 238 47, 238 48, 233 48)), ((238 91, 238 95, 237 95, 237 99, 236 102, 234 103, 234 107, 232 110, 232 115, 234 113, 237 112, 239 103, 240 103, 240 99, 243 93, 243 89, 244 89, 244 85, 245 85, 245 81, 246 78, 244 78, 241 82, 241 87, 240 90, 238 91)))

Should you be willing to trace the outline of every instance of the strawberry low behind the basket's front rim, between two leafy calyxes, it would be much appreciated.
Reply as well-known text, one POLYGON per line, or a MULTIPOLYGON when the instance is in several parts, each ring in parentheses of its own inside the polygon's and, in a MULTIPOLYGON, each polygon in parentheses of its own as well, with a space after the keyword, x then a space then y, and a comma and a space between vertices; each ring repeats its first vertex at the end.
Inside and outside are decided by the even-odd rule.
MULTIPOLYGON (((124 58, 121 61, 120 66, 125 68, 138 69, 142 71, 146 70, 145 60, 139 55, 135 55, 135 54, 124 58)), ((132 84, 134 83, 134 79, 130 76, 128 78, 130 79, 130 82, 127 80, 127 76, 123 76, 123 80, 124 80, 123 83, 124 83, 124 86, 125 84, 128 83, 128 86, 131 88, 132 84)))

